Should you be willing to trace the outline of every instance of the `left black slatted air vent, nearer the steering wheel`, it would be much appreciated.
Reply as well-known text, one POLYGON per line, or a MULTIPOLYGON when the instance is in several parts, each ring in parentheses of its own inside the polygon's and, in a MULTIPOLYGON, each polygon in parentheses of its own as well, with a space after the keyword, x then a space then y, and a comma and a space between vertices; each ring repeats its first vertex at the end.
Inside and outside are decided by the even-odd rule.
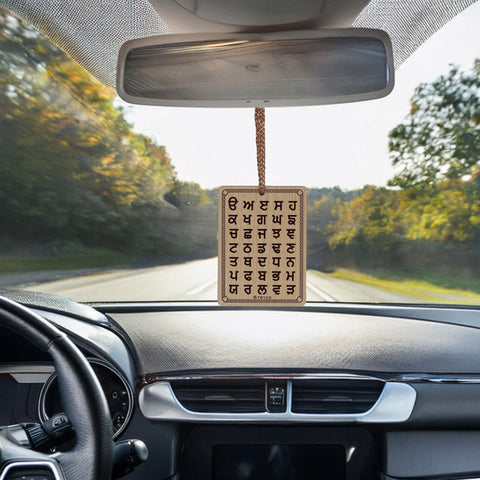
POLYGON ((192 412, 265 412, 264 380, 173 381, 178 401, 192 412))

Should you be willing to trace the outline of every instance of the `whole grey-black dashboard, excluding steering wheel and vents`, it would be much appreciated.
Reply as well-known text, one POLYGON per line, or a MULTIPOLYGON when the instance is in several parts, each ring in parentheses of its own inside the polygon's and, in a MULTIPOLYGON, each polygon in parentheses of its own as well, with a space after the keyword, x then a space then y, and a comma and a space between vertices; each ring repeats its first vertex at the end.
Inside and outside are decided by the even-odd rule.
MULTIPOLYGON (((35 299, 26 300, 35 305, 35 299)), ((130 385, 132 415, 118 440, 143 439, 151 456, 128 478, 212 480, 214 471, 220 471, 215 451, 238 456, 236 465, 248 445, 262 444, 268 452, 281 445, 287 452, 307 452, 309 445, 323 451, 333 439, 349 455, 356 452, 347 462, 346 480, 371 480, 379 474, 412 480, 480 475, 475 453, 480 448, 478 310, 337 305, 258 311, 213 304, 116 304, 97 311, 42 300, 37 311, 130 385), (386 402, 390 410, 383 410, 383 417, 335 421, 288 414, 282 421, 247 417, 239 422, 230 413, 185 415, 169 390, 175 381, 195 376, 242 374, 248 383, 255 375, 270 375, 295 387, 295 375, 318 375, 322 382, 322 375, 332 372, 385 382, 383 391, 390 387, 392 395, 386 402), (405 409, 399 399, 405 397, 396 397, 395 388, 402 386, 413 392, 405 418, 398 417, 405 409)), ((4 423, 37 421, 40 390, 53 367, 22 338, 1 329, 0 351, 4 423)))

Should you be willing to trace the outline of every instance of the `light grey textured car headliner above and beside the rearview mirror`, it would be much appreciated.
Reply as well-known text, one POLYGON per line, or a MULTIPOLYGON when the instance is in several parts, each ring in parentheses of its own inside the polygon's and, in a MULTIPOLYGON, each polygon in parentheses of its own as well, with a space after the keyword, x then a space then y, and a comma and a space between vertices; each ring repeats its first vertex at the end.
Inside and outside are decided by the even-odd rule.
POLYGON ((0 0, 105 85, 127 40, 167 33, 363 27, 391 37, 398 68, 475 0, 0 0), (269 20, 271 19, 271 20, 269 20), (269 24, 266 22, 269 21, 269 24))

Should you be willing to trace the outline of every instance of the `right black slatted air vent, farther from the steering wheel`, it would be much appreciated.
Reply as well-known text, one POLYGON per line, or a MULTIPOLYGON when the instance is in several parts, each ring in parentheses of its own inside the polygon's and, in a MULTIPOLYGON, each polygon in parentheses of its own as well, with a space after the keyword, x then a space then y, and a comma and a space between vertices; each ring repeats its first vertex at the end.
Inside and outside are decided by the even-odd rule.
POLYGON ((376 380, 297 380, 292 384, 292 412, 363 413, 373 407, 383 385, 376 380))

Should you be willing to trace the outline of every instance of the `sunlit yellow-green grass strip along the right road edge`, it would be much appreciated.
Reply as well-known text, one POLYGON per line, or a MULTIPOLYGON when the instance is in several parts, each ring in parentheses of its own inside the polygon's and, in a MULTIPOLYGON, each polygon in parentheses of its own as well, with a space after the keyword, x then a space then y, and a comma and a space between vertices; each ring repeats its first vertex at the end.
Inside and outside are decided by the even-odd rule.
POLYGON ((343 268, 330 275, 391 292, 412 295, 429 302, 480 305, 480 279, 468 275, 387 270, 366 274, 343 268))

